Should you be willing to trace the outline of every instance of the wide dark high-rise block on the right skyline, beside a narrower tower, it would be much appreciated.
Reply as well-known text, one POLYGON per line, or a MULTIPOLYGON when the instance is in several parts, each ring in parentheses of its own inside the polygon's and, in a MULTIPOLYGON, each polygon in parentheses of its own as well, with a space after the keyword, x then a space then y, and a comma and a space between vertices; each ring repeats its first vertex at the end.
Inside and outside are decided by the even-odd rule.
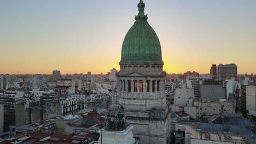
POLYGON ((231 79, 234 77, 237 81, 237 65, 231 64, 219 64, 217 67, 217 79, 219 81, 225 81, 226 79, 231 79))

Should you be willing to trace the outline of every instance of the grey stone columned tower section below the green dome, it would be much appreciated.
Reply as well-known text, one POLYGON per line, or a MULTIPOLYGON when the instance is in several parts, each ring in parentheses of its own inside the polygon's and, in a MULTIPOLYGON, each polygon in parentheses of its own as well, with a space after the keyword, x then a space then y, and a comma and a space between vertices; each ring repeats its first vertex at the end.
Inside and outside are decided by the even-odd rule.
MULTIPOLYGON (((117 101, 124 107, 126 122, 134 126, 140 143, 170 142, 170 105, 165 98, 162 65, 121 65, 117 74, 117 101)), ((109 109, 112 116, 115 105, 109 109)))

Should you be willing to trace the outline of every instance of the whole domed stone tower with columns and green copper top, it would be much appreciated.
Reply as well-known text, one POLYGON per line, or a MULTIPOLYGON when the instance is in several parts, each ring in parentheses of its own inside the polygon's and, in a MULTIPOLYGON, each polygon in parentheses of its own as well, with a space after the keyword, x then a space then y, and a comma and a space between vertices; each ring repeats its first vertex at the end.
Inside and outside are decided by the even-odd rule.
MULTIPOLYGON (((139 143, 170 143, 170 104, 165 98, 165 71, 161 45, 138 3, 135 23, 127 32, 117 73, 117 103, 139 143)), ((114 105, 109 113, 114 115, 114 105)))

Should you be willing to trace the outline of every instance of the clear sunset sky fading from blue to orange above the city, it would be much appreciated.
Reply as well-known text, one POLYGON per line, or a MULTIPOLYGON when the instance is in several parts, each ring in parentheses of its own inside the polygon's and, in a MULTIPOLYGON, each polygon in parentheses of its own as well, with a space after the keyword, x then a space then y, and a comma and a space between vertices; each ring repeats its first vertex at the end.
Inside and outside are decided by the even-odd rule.
MULTIPOLYGON (((0 0, 0 74, 107 73, 139 0, 0 0)), ((255 0, 144 0, 168 73, 236 63, 256 74, 255 0)))

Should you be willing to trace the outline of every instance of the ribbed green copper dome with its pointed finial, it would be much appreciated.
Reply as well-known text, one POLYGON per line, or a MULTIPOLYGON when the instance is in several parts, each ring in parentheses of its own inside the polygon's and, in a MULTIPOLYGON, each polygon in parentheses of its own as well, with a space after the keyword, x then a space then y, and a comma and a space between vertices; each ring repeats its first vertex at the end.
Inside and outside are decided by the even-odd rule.
POLYGON ((136 22, 127 32, 121 52, 121 63, 124 62, 160 62, 162 63, 161 45, 154 29, 148 24, 144 14, 145 4, 138 3, 136 22))

